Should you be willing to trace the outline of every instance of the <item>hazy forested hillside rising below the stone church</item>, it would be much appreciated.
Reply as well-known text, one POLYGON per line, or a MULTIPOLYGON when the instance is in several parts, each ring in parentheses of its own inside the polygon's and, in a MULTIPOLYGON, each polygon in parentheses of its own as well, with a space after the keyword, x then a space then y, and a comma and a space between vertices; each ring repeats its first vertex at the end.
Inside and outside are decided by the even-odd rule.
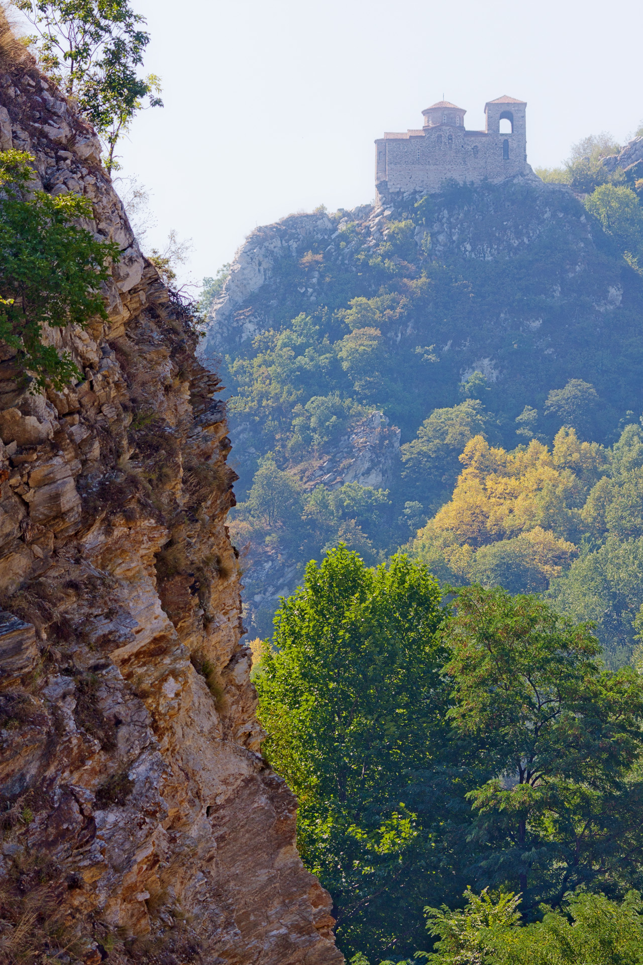
MULTIPOLYGON (((482 543, 524 535, 486 551, 497 557, 522 550, 531 534, 539 575, 514 573, 511 586, 549 588, 576 615, 603 607, 623 553, 636 552, 614 540, 621 547, 642 535, 635 521, 613 522, 619 499, 630 497, 614 496, 623 486, 607 451, 643 410, 643 182, 637 161, 626 158, 625 170, 611 157, 603 164, 616 151, 590 138, 566 169, 541 172, 545 180, 453 185, 439 196, 333 214, 320 208, 249 237, 214 301, 205 355, 221 354, 228 385, 240 476, 234 538, 249 547, 254 635, 270 633, 280 593, 325 548, 343 541, 374 564, 413 539, 450 500, 470 440, 516 454, 532 440, 550 448, 561 427, 573 428, 578 444, 596 444, 591 458, 582 455, 591 469, 576 483, 562 442, 550 456, 562 482, 534 470, 537 500, 547 503, 557 485, 561 507, 492 526, 477 542, 457 534, 442 542, 477 553, 482 543), (608 485, 612 521, 590 521, 608 485), (567 513, 564 522, 556 512, 567 513), (576 574, 601 565, 611 575, 597 576, 601 587, 581 600, 576 574), (568 570, 566 588, 549 586, 568 570)), ((628 431, 619 445, 634 444, 628 431)), ((519 479, 522 469, 506 472, 519 479)), ((626 488, 636 485, 628 479, 626 488)), ((484 559, 441 573, 482 579, 484 559)), ((641 602, 633 589, 626 596, 610 597, 613 615, 601 628, 619 662, 629 657, 641 602)))

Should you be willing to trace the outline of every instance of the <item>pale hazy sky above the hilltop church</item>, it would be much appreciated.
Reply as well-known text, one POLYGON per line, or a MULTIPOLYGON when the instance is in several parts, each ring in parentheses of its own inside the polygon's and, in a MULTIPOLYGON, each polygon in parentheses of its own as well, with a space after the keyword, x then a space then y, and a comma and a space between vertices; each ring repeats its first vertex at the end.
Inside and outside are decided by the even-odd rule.
POLYGON ((374 196, 374 145, 442 98, 527 101, 527 157, 554 165, 590 133, 625 143, 643 117, 643 5, 596 0, 132 0, 164 108, 122 146, 160 243, 194 241, 197 279, 255 225, 374 196))

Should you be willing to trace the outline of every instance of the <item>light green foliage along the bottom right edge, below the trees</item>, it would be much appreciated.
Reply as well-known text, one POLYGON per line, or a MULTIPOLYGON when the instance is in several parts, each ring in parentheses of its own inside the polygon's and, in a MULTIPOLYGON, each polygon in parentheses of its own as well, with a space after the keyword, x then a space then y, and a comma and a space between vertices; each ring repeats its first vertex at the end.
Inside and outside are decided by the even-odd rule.
POLYGON ((631 891, 619 903, 579 892, 560 911, 543 906, 543 921, 521 927, 520 896, 465 893, 464 909, 427 908, 427 929, 436 951, 419 952, 436 965, 640 965, 643 903, 631 891))

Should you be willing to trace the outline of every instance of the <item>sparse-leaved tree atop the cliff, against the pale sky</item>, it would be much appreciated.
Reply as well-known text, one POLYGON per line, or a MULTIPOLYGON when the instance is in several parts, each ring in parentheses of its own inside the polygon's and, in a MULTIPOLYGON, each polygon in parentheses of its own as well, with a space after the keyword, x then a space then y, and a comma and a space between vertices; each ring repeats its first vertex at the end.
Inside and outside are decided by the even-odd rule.
POLYGON ((145 18, 127 0, 13 0, 38 31, 42 68, 80 109, 102 138, 105 166, 116 164, 114 150, 147 98, 163 106, 155 74, 137 68, 149 42, 145 18))

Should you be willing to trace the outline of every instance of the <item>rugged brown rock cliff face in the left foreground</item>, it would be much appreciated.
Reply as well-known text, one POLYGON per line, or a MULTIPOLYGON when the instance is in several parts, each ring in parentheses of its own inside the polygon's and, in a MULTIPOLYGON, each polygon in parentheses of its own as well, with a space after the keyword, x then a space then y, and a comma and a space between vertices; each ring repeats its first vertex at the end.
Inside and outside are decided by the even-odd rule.
POLYGON ((0 955, 341 962, 258 753, 219 380, 92 130, 4 71, 1 147, 87 195, 122 257, 109 323, 61 339, 82 382, 30 395, 0 361, 0 955))

